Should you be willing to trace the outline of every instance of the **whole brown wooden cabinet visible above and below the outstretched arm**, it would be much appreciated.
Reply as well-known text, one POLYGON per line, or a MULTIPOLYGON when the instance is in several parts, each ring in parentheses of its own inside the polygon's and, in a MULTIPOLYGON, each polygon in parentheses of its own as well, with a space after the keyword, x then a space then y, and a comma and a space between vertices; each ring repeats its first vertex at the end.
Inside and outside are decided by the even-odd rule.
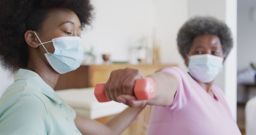
MULTIPOLYGON (((116 69, 124 69, 126 67, 140 69, 143 75, 149 75, 156 71, 169 66, 177 66, 175 64, 159 64, 159 65, 131 65, 131 64, 110 64, 110 65, 90 65, 80 66, 77 70, 60 75, 55 89, 72 89, 94 87, 97 83, 108 80, 111 71, 116 69)), ((126 129, 122 135, 145 135, 150 121, 151 106, 138 115, 134 122, 126 129)), ((115 115, 96 119, 101 123, 106 123, 115 115)), ((125 119, 124 119, 125 121, 125 119)))

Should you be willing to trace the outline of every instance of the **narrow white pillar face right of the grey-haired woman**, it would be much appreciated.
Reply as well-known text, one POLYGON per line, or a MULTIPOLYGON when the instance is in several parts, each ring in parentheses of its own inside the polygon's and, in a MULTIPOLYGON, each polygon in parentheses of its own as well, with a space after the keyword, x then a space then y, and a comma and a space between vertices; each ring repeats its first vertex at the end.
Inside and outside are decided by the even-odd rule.
POLYGON ((225 63, 225 88, 224 93, 231 109, 233 117, 236 119, 236 92, 237 92, 237 1, 226 0, 226 23, 230 27, 234 48, 230 52, 225 63))

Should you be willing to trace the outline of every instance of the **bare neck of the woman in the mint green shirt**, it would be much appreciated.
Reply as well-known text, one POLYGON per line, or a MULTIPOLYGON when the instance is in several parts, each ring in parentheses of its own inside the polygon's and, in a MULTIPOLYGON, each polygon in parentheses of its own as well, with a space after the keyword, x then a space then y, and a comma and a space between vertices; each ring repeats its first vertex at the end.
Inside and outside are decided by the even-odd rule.
POLYGON ((54 89, 60 74, 47 65, 42 59, 29 58, 27 69, 38 73, 44 82, 54 89))

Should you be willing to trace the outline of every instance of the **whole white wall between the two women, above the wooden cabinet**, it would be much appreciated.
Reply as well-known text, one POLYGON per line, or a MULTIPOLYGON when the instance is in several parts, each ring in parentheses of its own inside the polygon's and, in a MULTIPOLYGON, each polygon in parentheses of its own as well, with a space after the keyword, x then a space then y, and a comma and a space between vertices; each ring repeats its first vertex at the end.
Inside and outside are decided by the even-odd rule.
POLYGON ((152 32, 161 45, 163 63, 183 64, 176 47, 176 34, 188 19, 187 0, 93 0, 95 18, 82 34, 85 49, 94 47, 96 64, 101 54, 112 61, 131 61, 131 48, 146 36, 152 45, 152 32))

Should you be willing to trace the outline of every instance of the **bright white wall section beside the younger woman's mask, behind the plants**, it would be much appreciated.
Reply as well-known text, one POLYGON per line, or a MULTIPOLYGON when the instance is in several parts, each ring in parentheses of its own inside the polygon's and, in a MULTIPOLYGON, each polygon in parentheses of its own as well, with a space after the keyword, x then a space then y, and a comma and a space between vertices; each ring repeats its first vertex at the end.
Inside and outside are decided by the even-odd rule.
MULTIPOLYGON (((111 54, 112 61, 129 61, 136 40, 152 35, 154 2, 152 0, 93 0, 92 27, 82 34, 85 48, 93 46, 96 64, 101 54, 111 54)), ((86 49, 86 50, 87 50, 86 49)))

